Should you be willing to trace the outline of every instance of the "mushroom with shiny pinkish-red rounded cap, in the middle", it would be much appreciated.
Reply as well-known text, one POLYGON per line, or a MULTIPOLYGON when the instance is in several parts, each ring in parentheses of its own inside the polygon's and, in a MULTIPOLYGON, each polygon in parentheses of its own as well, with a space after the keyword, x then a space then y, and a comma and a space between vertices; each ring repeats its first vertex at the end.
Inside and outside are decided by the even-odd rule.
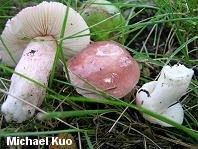
MULTIPOLYGON (((119 44, 108 41, 98 41, 88 45, 67 61, 67 67, 72 84, 94 89, 79 79, 81 77, 116 98, 128 94, 140 77, 139 66, 130 53, 119 44)), ((79 88, 76 90, 85 97, 103 98, 91 91, 79 88)))

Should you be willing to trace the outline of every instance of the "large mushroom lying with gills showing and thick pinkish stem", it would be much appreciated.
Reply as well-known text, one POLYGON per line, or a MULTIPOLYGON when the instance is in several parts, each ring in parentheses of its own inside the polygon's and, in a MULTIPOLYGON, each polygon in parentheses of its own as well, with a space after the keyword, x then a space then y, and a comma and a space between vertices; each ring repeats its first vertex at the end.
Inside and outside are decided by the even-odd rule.
MULTIPOLYGON (((4 64, 15 67, 12 60, 14 58, 18 62, 15 68, 17 73, 47 86, 66 10, 67 6, 61 3, 42 2, 37 6, 23 9, 8 20, 1 35, 8 51, 3 44, 0 44, 3 49, 4 64)), ((82 35, 82 37, 63 40, 62 50, 66 59, 89 44, 90 37, 83 36, 83 34, 89 34, 87 28, 83 18, 72 8, 68 8, 64 37, 74 34, 82 35)), ((6 121, 21 123, 35 113, 35 108, 14 97, 40 106, 45 92, 46 90, 42 86, 13 74, 9 94, 1 108, 6 121)))

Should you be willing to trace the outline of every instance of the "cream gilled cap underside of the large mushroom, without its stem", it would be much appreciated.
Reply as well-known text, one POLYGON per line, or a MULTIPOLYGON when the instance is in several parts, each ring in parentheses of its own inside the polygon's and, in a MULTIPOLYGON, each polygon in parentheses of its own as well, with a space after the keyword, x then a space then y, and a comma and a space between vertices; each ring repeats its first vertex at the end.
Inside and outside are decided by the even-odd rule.
MULTIPOLYGON (((67 6, 61 3, 42 2, 37 6, 23 9, 8 20, 1 37, 16 62, 19 61, 31 39, 38 36, 52 36, 55 40, 60 38, 66 9, 67 6)), ((69 8, 64 37, 69 37, 87 28, 88 26, 80 14, 69 8)), ((83 34, 89 34, 89 30, 83 31, 77 36, 83 34)), ((63 40, 62 48, 65 58, 71 58, 89 42, 89 36, 63 40)), ((1 44, 0 47, 4 49, 1 44)), ((5 65, 15 66, 6 50, 3 50, 2 54, 5 65)))

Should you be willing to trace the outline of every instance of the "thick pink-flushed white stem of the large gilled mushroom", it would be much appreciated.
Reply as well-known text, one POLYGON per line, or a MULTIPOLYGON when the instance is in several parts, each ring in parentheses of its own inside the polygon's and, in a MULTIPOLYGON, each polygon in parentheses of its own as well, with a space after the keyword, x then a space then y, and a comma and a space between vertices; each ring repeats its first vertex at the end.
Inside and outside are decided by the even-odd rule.
MULTIPOLYGON (((47 86, 56 49, 57 43, 51 36, 33 39, 24 50, 15 71, 47 86)), ((35 106, 41 105, 45 92, 43 87, 23 77, 16 74, 11 77, 9 94, 22 98, 35 106)), ((18 123, 31 118, 35 113, 35 108, 9 95, 1 110, 5 114, 7 122, 16 121, 18 123)))

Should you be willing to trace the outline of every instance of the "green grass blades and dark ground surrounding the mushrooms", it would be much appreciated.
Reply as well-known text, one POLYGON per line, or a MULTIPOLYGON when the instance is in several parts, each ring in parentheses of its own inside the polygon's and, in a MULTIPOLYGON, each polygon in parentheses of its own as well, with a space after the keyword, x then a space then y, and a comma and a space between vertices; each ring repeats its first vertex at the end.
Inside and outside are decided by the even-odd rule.
MULTIPOLYGON (((0 34, 8 18, 14 16, 22 8, 39 2, 41 1, 33 0, 31 3, 23 0, 0 1, 0 34)), ((60 2, 67 3, 75 10, 82 5, 82 1, 78 0, 60 2)), ((55 66, 58 56, 63 57, 62 41, 78 36, 63 37, 64 24, 67 20, 66 11, 49 87, 14 72, 12 68, 8 68, 2 62, 0 64, 0 105, 7 94, 6 90, 9 88, 9 78, 12 73, 47 90, 45 102, 40 108, 37 108, 42 113, 39 120, 37 117, 33 117, 21 124, 7 124, 0 113, 0 148, 5 147, 3 138, 5 136, 53 136, 59 133, 71 133, 76 140, 80 140, 79 146, 83 149, 198 148, 197 1, 184 3, 182 0, 140 0, 136 2, 115 0, 112 2, 114 2, 113 5, 119 6, 121 13, 125 14, 126 22, 117 28, 95 31, 91 34, 119 31, 119 35, 122 37, 128 36, 126 42, 123 43, 124 40, 122 40, 120 44, 130 51, 141 67, 141 78, 132 94, 123 99, 116 99, 97 89, 94 92, 105 96, 107 100, 88 99, 78 95, 74 90, 78 86, 67 81, 64 75, 56 75, 55 66), (134 104, 137 89, 144 83, 154 80, 164 65, 175 63, 184 64, 195 71, 187 93, 180 99, 185 110, 183 125, 134 104), (142 118, 139 111, 175 127, 165 128, 150 124, 142 118)), ((102 22, 98 24, 100 23, 102 22)), ((94 26, 89 28, 92 27, 94 26)), ((115 40, 117 37, 109 40, 115 40)), ((67 70, 66 60, 63 61, 63 64, 67 70)))

